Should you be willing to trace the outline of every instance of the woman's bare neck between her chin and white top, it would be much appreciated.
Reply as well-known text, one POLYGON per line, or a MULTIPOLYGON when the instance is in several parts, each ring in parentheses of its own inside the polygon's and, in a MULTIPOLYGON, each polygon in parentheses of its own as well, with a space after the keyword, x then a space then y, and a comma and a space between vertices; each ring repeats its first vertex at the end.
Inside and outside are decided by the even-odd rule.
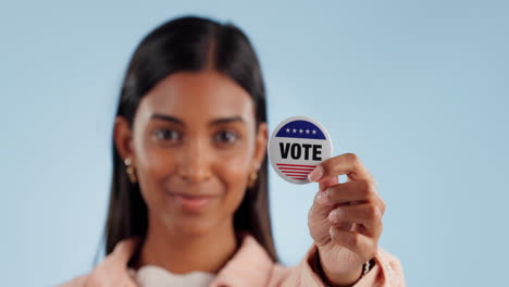
POLYGON ((152 219, 137 267, 157 265, 175 274, 218 273, 237 249, 233 222, 214 226, 208 233, 189 235, 152 219))

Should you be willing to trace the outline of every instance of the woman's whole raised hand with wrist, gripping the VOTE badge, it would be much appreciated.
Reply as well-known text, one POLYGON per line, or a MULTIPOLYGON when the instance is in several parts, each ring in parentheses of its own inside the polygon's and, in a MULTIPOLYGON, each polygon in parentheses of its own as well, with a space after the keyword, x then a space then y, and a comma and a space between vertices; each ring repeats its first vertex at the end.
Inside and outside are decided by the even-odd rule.
POLYGON ((356 154, 331 158, 309 177, 320 184, 308 225, 322 269, 331 284, 352 285, 361 276, 362 264, 376 254, 385 203, 356 154), (348 180, 339 184, 343 174, 348 180))

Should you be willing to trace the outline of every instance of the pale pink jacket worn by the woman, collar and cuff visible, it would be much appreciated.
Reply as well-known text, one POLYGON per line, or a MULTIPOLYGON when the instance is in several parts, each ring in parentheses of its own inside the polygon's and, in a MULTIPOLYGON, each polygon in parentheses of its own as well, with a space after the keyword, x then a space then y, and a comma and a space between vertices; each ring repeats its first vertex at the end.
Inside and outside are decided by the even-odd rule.
MULTIPOLYGON (((127 271, 127 262, 134 253, 135 245, 134 240, 129 239, 120 241, 114 251, 91 273, 60 287, 136 287, 127 271)), ((240 249, 218 273, 210 286, 325 286, 313 271, 316 247, 313 246, 297 266, 285 267, 274 263, 253 237, 245 236, 240 249)), ((398 259, 378 250, 375 262, 375 266, 355 286, 405 286, 398 259)))

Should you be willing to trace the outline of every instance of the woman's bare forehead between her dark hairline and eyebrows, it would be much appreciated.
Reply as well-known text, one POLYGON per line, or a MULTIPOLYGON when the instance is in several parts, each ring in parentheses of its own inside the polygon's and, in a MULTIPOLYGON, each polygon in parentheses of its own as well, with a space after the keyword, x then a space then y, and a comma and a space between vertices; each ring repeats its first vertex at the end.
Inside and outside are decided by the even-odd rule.
POLYGON ((247 91, 216 71, 178 72, 162 79, 141 100, 140 116, 171 114, 184 121, 238 115, 254 121, 247 91))

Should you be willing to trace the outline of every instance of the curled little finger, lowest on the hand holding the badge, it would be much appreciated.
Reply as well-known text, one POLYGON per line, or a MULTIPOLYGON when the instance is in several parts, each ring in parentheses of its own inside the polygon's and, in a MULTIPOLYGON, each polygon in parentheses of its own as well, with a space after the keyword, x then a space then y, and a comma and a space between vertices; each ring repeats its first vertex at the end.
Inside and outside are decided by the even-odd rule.
POLYGON ((359 233, 350 233, 331 226, 331 240, 349 249, 351 252, 364 259, 372 259, 377 251, 377 242, 359 233))

